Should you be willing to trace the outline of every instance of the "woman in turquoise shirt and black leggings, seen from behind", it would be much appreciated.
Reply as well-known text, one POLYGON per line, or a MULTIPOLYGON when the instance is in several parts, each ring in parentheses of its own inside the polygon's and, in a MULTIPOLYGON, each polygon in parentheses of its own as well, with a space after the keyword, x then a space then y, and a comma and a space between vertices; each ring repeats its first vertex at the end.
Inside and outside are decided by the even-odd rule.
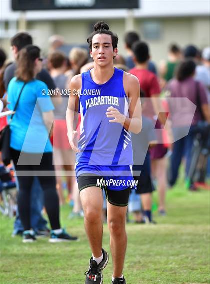
POLYGON ((8 85, 8 105, 13 110, 22 90, 11 128, 11 155, 19 182, 18 210, 24 227, 23 242, 33 242, 35 233, 30 224, 30 193, 34 176, 44 191, 44 203, 52 227, 49 241, 76 240, 60 227, 59 200, 52 163, 49 132, 54 106, 45 83, 35 79, 42 68, 40 49, 28 45, 21 49, 16 77, 8 85))

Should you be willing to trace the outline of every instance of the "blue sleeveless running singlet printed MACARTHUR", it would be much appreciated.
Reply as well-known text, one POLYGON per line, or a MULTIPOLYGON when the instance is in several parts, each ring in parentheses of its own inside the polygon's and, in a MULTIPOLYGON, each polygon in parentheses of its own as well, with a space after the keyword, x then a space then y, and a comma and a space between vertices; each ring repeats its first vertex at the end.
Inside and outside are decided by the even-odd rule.
POLYGON ((76 155, 77 163, 106 166, 133 164, 131 133, 120 123, 109 122, 113 118, 106 117, 107 108, 110 106, 129 116, 123 73, 115 68, 113 76, 105 84, 96 84, 91 78, 90 70, 82 73, 78 142, 81 152, 76 155))

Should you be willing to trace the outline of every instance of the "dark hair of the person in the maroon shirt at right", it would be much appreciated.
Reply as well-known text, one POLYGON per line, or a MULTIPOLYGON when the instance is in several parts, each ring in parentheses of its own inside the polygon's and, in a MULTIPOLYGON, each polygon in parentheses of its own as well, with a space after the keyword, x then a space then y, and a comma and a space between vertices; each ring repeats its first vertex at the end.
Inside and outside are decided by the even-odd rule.
POLYGON ((191 59, 186 59, 181 62, 176 70, 176 79, 178 81, 184 81, 185 79, 191 77, 195 72, 196 64, 191 59))

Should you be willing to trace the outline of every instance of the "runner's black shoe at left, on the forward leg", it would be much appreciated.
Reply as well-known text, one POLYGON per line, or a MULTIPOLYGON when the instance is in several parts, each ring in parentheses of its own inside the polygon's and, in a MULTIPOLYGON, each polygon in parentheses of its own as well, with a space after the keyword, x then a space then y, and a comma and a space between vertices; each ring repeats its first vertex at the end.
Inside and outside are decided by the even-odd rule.
POLYGON ((102 249, 103 260, 97 264, 91 257, 89 261, 89 270, 85 272, 85 284, 102 284, 103 283, 103 269, 108 263, 108 253, 102 249))

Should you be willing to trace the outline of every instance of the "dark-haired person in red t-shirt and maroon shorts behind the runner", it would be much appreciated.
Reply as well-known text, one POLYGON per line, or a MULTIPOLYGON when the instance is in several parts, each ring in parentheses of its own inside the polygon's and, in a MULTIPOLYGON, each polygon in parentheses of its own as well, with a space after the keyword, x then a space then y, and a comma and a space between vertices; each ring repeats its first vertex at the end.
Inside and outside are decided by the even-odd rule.
MULTIPOLYGON (((161 128, 161 124, 165 125, 166 115, 162 110, 160 100, 157 98, 161 92, 157 76, 148 70, 149 48, 145 42, 135 42, 132 46, 134 54, 135 67, 129 73, 135 75, 141 89, 145 93, 146 100, 142 114, 153 119, 155 128, 161 128), (158 116, 158 120, 157 120, 158 116)), ((158 136, 158 135, 157 135, 158 136)), ((161 137, 157 137, 158 141, 162 141, 161 137)), ((150 150, 152 175, 156 178, 159 191, 159 213, 165 215, 165 195, 166 195, 166 158, 167 148, 163 144, 157 144, 150 150)))

